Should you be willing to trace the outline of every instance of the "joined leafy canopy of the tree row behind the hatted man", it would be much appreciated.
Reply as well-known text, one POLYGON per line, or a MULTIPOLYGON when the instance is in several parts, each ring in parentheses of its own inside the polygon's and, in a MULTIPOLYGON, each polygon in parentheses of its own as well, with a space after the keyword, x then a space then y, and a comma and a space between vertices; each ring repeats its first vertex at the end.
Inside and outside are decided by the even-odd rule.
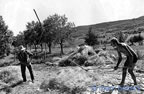
POLYGON ((68 18, 65 15, 50 15, 42 23, 38 21, 31 21, 26 24, 26 30, 18 35, 17 43, 23 43, 25 45, 38 45, 46 44, 49 47, 51 53, 51 47, 53 44, 59 44, 61 47, 61 53, 63 54, 63 45, 66 41, 70 41, 71 34, 76 31, 75 24, 68 22, 68 18), (19 39, 21 38, 21 42, 19 39))

